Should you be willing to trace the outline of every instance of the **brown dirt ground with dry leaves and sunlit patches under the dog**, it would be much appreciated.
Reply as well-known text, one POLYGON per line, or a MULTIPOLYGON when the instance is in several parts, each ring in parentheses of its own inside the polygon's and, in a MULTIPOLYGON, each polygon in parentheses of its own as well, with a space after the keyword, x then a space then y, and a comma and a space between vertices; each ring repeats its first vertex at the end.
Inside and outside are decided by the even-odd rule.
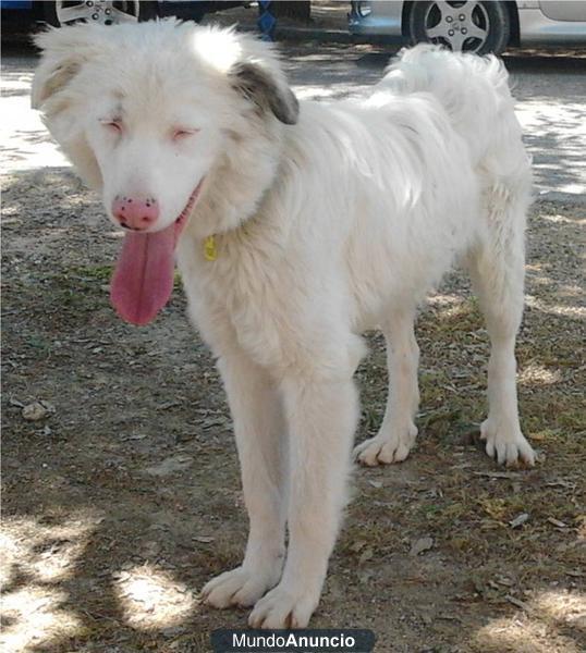
MULTIPOLYGON (((209 353, 179 287, 148 328, 114 316, 119 236, 69 170, 2 185, 4 650, 205 651, 246 619, 197 599, 246 530, 209 353)), ((417 448, 356 470, 314 626, 371 628, 383 652, 584 650, 585 221, 541 202, 529 222, 520 394, 539 465, 499 469, 469 436, 488 343, 454 273, 418 320, 417 448)), ((368 340, 358 439, 387 382, 368 340)))

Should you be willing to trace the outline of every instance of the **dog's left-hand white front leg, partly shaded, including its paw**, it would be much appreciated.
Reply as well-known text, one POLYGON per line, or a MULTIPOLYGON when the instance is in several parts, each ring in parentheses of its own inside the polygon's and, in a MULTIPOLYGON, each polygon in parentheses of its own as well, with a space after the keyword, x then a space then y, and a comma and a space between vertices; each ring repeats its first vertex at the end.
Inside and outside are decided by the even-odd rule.
POLYGON ((248 543, 240 567, 210 580, 203 590, 216 607, 254 605, 281 577, 284 559, 285 502, 282 402, 270 377, 244 353, 218 361, 234 419, 248 543))

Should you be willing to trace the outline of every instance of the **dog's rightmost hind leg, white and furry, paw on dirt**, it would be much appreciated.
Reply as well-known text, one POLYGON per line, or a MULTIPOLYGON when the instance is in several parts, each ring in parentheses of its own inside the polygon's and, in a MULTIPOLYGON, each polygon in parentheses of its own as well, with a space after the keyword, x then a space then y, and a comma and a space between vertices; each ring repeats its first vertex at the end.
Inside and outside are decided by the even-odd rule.
POLYGON ((523 315, 526 202, 505 188, 490 197, 488 232, 468 256, 475 292, 486 319, 491 352, 488 364, 488 418, 480 436, 498 463, 533 466, 535 454, 521 432, 516 392, 515 338, 523 315))

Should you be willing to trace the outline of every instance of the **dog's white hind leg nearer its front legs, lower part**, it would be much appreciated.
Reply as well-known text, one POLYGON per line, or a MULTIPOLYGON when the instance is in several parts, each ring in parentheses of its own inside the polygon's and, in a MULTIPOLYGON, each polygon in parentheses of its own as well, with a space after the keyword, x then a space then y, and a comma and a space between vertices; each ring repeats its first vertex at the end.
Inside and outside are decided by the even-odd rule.
POLYGON ((414 319, 415 309, 410 307, 394 310, 382 325, 387 340, 389 396, 378 434, 354 449, 354 455, 364 465, 400 463, 415 443, 417 428, 413 420, 419 404, 419 347, 413 332, 414 319))

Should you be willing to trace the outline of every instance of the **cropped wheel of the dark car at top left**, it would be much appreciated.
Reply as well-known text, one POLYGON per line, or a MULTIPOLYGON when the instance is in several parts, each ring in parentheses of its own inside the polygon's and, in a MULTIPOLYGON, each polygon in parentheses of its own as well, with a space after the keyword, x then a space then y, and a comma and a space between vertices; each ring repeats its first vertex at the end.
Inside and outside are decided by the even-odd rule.
POLYGON ((158 2, 44 2, 45 21, 54 27, 74 23, 149 21, 158 15, 158 2), (68 11, 69 10, 69 11, 68 11), (75 11, 76 10, 76 11, 75 11), (127 16, 127 17, 126 17, 127 16))

